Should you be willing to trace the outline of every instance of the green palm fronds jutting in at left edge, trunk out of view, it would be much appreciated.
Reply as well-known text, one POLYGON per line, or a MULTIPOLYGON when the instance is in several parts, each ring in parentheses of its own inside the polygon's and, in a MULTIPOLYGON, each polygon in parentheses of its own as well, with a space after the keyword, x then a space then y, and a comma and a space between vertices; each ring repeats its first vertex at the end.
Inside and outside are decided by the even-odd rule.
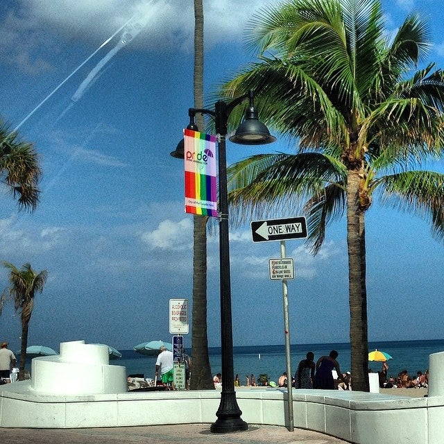
POLYGON ((33 211, 37 207, 41 173, 33 145, 19 142, 17 133, 0 126, 0 176, 12 196, 18 198, 20 209, 33 211))

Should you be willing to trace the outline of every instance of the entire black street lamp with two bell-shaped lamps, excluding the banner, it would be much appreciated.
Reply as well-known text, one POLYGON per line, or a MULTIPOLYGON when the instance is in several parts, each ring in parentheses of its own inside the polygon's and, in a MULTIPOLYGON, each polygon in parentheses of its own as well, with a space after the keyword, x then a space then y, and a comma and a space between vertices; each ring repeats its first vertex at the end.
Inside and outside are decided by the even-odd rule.
MULTIPOLYGON (((189 108, 190 117, 187 129, 198 130, 194 123, 197 113, 207 114, 214 118, 219 142, 219 263, 221 281, 221 349, 222 349, 222 392, 221 403, 216 411, 217 420, 212 424, 211 431, 228 433, 247 430, 248 424, 241 419, 241 409, 237 405, 234 391, 233 339, 232 339, 232 310, 230 282, 230 244, 228 241, 228 190, 227 190, 227 161, 225 136, 227 135, 228 117, 239 103, 249 99, 244 121, 237 128, 230 141, 243 145, 261 145, 275 142, 276 138, 257 118, 253 105, 253 91, 234 99, 230 103, 217 101, 214 111, 189 108)), ((184 157, 183 139, 179 142, 173 157, 184 157)))

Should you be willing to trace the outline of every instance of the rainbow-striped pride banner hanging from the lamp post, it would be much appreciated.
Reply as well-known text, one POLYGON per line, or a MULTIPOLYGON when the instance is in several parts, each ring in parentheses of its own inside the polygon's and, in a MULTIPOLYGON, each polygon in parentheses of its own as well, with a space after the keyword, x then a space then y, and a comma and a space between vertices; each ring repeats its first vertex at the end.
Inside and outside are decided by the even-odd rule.
POLYGON ((184 130, 185 212, 217 217, 216 136, 184 130))

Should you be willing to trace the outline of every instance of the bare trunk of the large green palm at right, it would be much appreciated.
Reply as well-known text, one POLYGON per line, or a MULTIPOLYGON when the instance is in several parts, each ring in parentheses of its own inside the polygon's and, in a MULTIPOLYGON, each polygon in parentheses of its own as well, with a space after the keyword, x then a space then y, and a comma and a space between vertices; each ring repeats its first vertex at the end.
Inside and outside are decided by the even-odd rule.
POLYGON ((359 170, 348 171, 347 246, 353 390, 369 391, 364 212, 359 209, 359 170))

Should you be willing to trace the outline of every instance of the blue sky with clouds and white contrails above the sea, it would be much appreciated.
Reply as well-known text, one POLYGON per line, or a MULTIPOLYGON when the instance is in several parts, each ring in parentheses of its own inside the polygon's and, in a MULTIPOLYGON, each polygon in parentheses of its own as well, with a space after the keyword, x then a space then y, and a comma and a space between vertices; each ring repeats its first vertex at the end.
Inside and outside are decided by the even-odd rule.
MULTIPOLYGON (((244 30, 264 6, 204 0, 205 94, 254 60, 244 30)), ((429 61, 444 67, 441 1, 383 6, 388 32, 420 11, 433 40, 429 61)), ((0 260, 49 273, 28 344, 58 350, 62 341, 85 340, 124 350, 168 341, 169 299, 186 298, 191 307, 192 216, 183 210, 183 166, 169 153, 193 106, 193 28, 191 0, 0 2, 0 119, 35 144, 43 171, 32 214, 0 189, 0 260)), ((254 148, 228 142, 228 163, 294 149, 282 140, 254 148)), ((213 231, 208 339, 219 346, 213 231)), ((366 235, 369 340, 443 339, 443 242, 427 221, 378 203, 366 215, 366 235)), ((286 250, 295 263, 291 343, 347 342, 345 218, 327 229, 316 257, 302 240, 287 241, 286 250)), ((279 242, 253 243, 247 223, 230 229, 230 253, 234 345, 284 344, 282 284, 268 275, 279 242)), ((7 286, 0 268, 0 290, 7 286)), ((19 350, 20 334, 9 304, 0 339, 19 350)))

